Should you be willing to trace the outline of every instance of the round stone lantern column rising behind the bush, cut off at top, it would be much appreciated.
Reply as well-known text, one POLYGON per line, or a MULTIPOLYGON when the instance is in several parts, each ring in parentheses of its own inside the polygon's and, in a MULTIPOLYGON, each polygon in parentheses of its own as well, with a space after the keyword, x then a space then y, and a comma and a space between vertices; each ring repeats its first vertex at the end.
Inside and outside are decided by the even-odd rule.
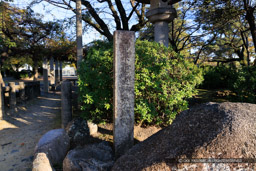
MULTIPOLYGON (((146 17, 154 24, 155 41, 168 47, 169 27, 168 24, 177 17, 175 8, 172 7, 173 0, 137 0, 142 3, 150 3, 150 9, 146 17)), ((174 0, 175 1, 175 0, 174 0)), ((178 0, 179 1, 179 0, 178 0)), ((176 2, 178 2, 176 1, 176 2)))

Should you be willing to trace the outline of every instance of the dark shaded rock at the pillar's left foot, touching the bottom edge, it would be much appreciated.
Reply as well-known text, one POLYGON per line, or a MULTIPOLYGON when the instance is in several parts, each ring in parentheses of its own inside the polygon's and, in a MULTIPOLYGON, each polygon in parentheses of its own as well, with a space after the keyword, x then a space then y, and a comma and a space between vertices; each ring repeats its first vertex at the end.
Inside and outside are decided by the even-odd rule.
POLYGON ((114 164, 113 151, 107 142, 77 147, 63 161, 64 171, 103 171, 114 164))

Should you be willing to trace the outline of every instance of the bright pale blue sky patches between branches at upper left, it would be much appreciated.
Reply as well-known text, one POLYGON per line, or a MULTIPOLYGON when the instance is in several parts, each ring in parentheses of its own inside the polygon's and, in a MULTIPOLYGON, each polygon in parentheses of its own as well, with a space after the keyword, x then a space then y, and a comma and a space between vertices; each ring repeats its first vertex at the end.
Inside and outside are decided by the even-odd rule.
MULTIPOLYGON (((26 8, 30 4, 30 2, 31 0, 14 0, 14 2, 11 2, 11 4, 19 8, 26 8)), ((42 14, 44 16, 44 21, 62 20, 75 16, 72 11, 53 6, 47 2, 42 2, 38 5, 34 5, 32 9, 34 10, 34 12, 42 14)), ((90 33, 85 32, 85 30, 83 32, 84 45, 101 38, 101 35, 94 29, 90 30, 90 33)), ((72 34, 71 36, 75 37, 75 28, 70 28, 69 30, 67 30, 67 33, 72 34)))

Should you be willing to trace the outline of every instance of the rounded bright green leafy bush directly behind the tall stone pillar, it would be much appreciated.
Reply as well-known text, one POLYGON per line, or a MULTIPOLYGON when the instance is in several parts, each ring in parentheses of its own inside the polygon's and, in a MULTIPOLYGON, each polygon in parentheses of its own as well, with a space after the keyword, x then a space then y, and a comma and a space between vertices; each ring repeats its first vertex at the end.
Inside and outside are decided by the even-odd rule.
MULTIPOLYGON (((111 122, 113 115, 112 44, 96 42, 81 63, 80 100, 83 117, 111 122)), ((169 124, 187 109, 202 74, 194 64, 157 43, 137 41, 135 62, 135 118, 141 124, 169 124)))

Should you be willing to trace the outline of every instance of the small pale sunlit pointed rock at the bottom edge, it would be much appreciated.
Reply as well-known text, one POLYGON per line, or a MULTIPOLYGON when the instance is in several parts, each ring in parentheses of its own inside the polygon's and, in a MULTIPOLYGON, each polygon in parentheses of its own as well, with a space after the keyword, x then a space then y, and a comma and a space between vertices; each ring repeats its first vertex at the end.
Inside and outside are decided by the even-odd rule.
POLYGON ((32 171, 53 171, 50 161, 45 153, 37 153, 33 161, 32 171))

